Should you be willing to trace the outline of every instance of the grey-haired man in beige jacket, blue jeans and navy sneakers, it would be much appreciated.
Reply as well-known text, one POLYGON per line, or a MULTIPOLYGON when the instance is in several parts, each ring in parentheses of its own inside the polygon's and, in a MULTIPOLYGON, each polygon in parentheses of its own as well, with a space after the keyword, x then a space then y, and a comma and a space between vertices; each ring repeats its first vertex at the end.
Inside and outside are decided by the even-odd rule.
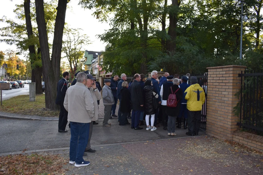
POLYGON ((87 166, 89 161, 84 161, 83 154, 88 144, 89 126, 94 118, 94 102, 87 87, 93 83, 83 72, 78 73, 77 83, 70 86, 64 99, 64 107, 68 111, 68 121, 70 122, 70 147, 69 163, 75 167, 87 166))

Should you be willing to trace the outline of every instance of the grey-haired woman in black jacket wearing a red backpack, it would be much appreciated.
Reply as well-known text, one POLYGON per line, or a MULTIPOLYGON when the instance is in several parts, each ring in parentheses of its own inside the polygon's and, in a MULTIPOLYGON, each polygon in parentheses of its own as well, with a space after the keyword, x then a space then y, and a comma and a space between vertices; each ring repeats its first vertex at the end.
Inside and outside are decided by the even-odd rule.
POLYGON ((176 117, 180 112, 180 100, 183 98, 183 91, 179 88, 178 78, 173 79, 173 86, 168 89, 168 100, 166 114, 168 115, 168 135, 175 136, 176 117))

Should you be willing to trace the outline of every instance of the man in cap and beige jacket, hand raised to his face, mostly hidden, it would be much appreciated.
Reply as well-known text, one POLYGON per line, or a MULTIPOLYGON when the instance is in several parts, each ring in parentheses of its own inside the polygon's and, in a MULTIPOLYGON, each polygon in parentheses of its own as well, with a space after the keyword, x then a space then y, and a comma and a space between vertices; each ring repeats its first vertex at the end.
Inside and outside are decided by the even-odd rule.
MULTIPOLYGON (((91 78, 92 75, 88 74, 87 77, 91 78)), ((96 79, 93 80, 93 83, 90 85, 91 87, 87 86, 90 93, 91 93, 92 99, 93 99, 94 117, 91 119, 92 122, 89 124, 89 141, 88 141, 88 145, 85 149, 85 152, 96 152, 96 150, 91 149, 91 146, 90 146, 90 138, 91 138, 92 130, 93 130, 93 121, 98 120, 99 107, 98 107, 97 100, 101 99, 101 94, 100 94, 98 88, 96 87, 96 83, 95 83, 96 81, 97 81, 96 79)))

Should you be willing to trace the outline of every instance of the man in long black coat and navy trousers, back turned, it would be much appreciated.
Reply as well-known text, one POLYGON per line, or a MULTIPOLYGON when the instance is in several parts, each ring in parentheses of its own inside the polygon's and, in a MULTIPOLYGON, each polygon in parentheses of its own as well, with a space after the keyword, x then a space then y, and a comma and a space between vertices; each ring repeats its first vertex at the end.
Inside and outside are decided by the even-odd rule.
POLYGON ((131 129, 141 130, 143 128, 139 127, 140 113, 143 110, 143 93, 140 86, 141 76, 136 73, 134 75, 134 81, 131 83, 131 129))

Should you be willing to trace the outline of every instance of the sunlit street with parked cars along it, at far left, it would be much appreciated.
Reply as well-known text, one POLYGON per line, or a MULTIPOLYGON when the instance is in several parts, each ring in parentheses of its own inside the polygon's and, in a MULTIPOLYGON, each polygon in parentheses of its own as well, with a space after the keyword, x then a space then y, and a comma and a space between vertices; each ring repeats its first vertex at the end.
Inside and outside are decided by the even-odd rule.
POLYGON ((16 97, 19 95, 27 95, 29 94, 29 84, 25 84, 25 87, 21 88, 12 88, 9 90, 2 90, 2 100, 7 100, 12 97, 16 97))

